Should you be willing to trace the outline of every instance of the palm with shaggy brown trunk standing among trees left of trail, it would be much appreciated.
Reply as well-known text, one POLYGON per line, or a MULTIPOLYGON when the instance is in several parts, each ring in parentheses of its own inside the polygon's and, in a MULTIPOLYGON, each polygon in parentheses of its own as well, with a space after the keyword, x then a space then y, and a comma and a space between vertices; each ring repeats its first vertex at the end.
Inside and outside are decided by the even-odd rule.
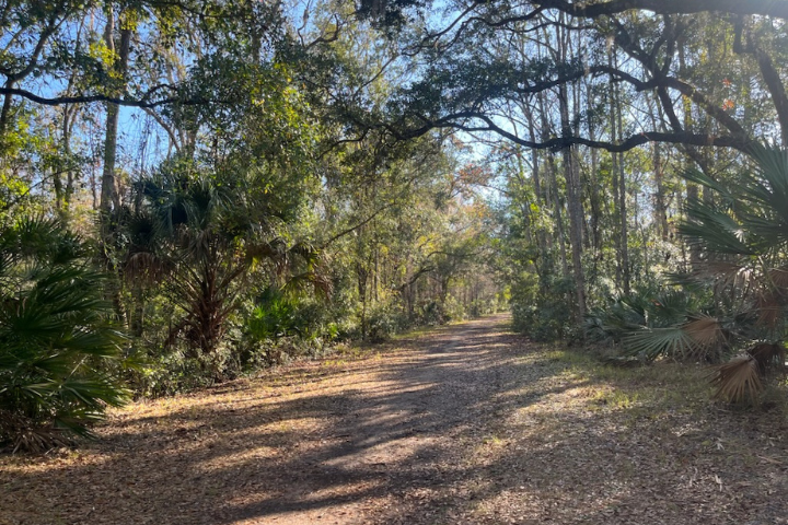
POLYGON ((269 190, 265 172, 231 177, 175 163, 137 185, 139 203, 126 219, 127 278, 161 287, 179 311, 165 346, 183 340, 186 357, 216 380, 225 361, 220 347, 253 273, 327 285, 316 252, 287 240, 283 221, 292 220, 299 195, 268 199, 269 190))

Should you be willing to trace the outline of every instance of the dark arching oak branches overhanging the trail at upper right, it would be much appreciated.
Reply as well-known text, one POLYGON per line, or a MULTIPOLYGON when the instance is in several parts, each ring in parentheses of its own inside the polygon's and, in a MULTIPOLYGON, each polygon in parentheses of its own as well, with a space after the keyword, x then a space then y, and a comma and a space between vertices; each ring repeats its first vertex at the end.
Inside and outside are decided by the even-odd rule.
MULTIPOLYGON (((426 9, 428 4, 420 1, 394 1, 384 3, 381 10, 375 9, 372 2, 361 13, 376 20, 379 24, 402 26, 407 20, 418 18, 418 10, 426 9)), ((408 37, 403 44, 406 56, 418 55, 429 67, 422 68, 424 74, 417 75, 409 86, 401 91, 398 97, 394 97, 392 112, 396 117, 390 119, 386 126, 393 133, 403 137, 419 135, 434 127, 489 130, 521 145, 543 149, 584 144, 621 152, 658 141, 745 150, 754 140, 751 130, 741 126, 737 116, 731 115, 725 100, 717 100, 682 78, 676 63, 677 49, 688 42, 688 35, 696 26, 695 20, 684 13, 711 10, 710 4, 696 2, 692 8, 675 5, 673 2, 660 7, 638 5, 638 2, 602 2, 591 8, 553 1, 452 4, 445 9, 451 22, 434 26, 432 21, 425 20, 422 25, 426 28, 416 32, 416 37, 408 37), (548 27, 553 32, 589 32, 590 45, 572 60, 552 62, 521 61, 515 60, 513 54, 501 52, 501 46, 506 48, 506 40, 501 38, 512 34, 529 35, 540 27, 548 27), (612 67, 600 59, 605 54, 599 51, 607 43, 614 44, 615 52, 625 59, 621 62, 622 67, 612 67), (496 48, 497 52, 486 54, 484 50, 489 48, 496 48), (511 132, 496 118, 496 108, 503 100, 537 94, 581 79, 599 83, 609 75, 617 84, 626 86, 627 96, 641 107, 646 106, 644 97, 647 94, 658 96, 670 125, 668 131, 639 126, 634 133, 614 141, 598 136, 591 140, 589 136, 560 130, 546 140, 532 141, 511 132), (719 125, 721 132, 685 128, 680 118, 684 109, 677 95, 686 97, 693 106, 719 125)), ((761 2, 748 2, 741 9, 729 4, 719 7, 719 11, 737 14, 748 10, 752 13, 765 10, 780 15, 779 10, 769 9, 761 2)), ((714 20, 721 21, 716 16, 714 20)), ((784 105, 785 89, 774 71, 779 69, 776 65, 781 62, 776 60, 781 58, 773 48, 755 45, 758 38, 749 36, 758 32, 776 35, 779 30, 763 21, 746 18, 735 19, 734 23, 727 23, 727 31, 735 36, 731 39, 753 43, 731 46, 729 52, 740 49, 737 52, 741 59, 731 57, 728 63, 748 61, 746 54, 760 60, 760 81, 765 92, 769 93, 773 107, 779 113, 784 105)), ((761 37, 758 42, 765 40, 761 37)))

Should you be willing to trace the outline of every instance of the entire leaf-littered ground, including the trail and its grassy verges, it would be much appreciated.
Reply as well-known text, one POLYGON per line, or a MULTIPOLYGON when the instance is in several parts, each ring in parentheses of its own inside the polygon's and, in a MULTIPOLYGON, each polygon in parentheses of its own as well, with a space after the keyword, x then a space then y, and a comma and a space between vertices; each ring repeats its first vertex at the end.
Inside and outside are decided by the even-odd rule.
POLYGON ((0 456, 1 524, 788 524, 788 421, 700 366, 437 328, 137 402, 0 456))

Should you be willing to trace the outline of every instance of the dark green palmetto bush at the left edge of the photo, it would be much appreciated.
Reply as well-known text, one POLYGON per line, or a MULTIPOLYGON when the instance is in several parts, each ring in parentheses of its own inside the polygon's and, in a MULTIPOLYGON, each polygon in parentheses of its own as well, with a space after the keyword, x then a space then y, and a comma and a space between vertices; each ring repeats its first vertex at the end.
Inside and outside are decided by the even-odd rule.
POLYGON ((55 221, 0 231, 0 442, 14 450, 90 435, 105 408, 127 397, 117 376, 125 338, 89 256, 55 221))

